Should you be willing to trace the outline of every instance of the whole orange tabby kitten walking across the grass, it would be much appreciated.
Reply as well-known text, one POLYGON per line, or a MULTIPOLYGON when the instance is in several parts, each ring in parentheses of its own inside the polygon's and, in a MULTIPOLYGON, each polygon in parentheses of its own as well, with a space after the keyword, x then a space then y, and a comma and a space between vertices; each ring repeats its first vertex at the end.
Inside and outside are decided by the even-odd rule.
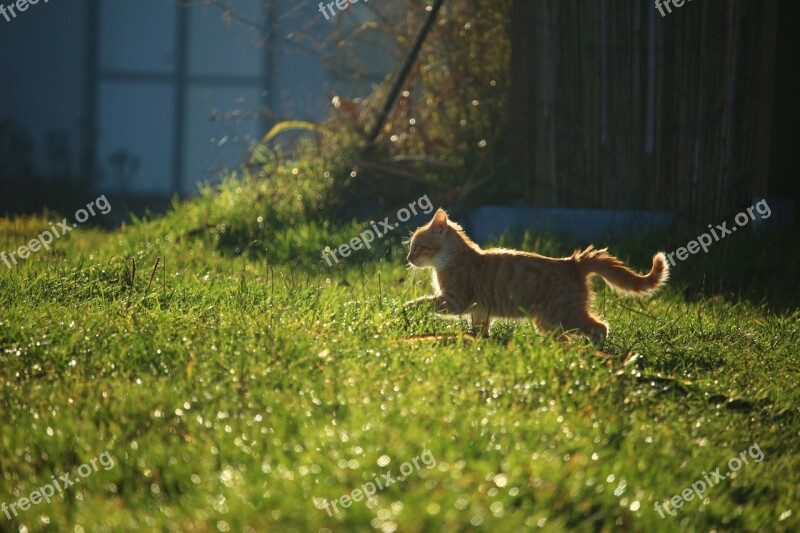
POLYGON ((614 289, 633 296, 651 294, 669 277, 663 253, 640 276, 605 249, 589 246, 572 256, 553 259, 516 250, 482 250, 439 209, 411 238, 408 262, 433 269, 434 296, 407 302, 406 310, 432 305, 439 313, 469 315, 479 332, 488 334, 494 318, 533 320, 539 331, 577 330, 595 342, 608 325, 590 309, 588 279, 597 274, 614 289))

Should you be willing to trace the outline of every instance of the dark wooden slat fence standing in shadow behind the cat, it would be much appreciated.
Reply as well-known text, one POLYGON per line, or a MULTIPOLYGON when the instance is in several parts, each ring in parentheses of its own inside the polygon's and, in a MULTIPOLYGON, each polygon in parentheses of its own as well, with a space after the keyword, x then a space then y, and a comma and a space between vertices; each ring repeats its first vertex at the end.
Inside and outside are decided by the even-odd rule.
POLYGON ((777 0, 517 0, 510 175, 532 206, 703 219, 766 194, 777 0))

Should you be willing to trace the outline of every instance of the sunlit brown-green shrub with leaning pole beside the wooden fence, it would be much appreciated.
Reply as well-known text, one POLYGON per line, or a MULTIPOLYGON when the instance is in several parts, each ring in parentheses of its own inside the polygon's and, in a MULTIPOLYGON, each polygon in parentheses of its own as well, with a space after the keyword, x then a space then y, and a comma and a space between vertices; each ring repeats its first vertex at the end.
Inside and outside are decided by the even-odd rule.
MULTIPOLYGON (((376 199, 381 204, 402 204, 423 190, 434 194, 438 203, 455 206, 468 201, 479 186, 484 199, 491 198, 496 181, 492 178, 503 171, 506 160, 510 4, 510 0, 445 4, 374 145, 367 144, 366 134, 394 82, 392 69, 408 53, 427 4, 403 0, 359 5, 360 13, 370 14, 364 16, 348 9, 348 16, 318 46, 332 50, 323 59, 334 72, 343 70, 347 79, 334 82, 334 107, 314 137, 319 145, 313 152, 297 150, 283 135, 296 124, 289 119, 279 123, 269 142, 257 150, 274 150, 278 140, 279 151, 291 153, 293 159, 322 157, 335 162, 333 180, 327 181, 331 207, 371 204, 376 199), (390 65, 382 78, 369 86, 358 83, 359 76, 374 78, 374 73, 366 72, 367 64, 381 62, 390 65), (361 92, 354 93, 358 86, 361 92)), ((330 170, 328 165, 325 170, 330 170)), ((271 172, 268 165, 261 174, 269 178, 271 172)))

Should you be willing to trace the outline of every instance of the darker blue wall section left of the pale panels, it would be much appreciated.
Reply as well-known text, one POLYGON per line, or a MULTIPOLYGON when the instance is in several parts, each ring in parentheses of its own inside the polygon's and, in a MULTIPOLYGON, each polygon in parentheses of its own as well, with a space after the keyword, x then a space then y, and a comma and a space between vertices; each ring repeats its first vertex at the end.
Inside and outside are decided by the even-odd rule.
POLYGON ((85 0, 40 2, 10 22, 0 17, 0 180, 25 174, 31 164, 47 179, 77 174, 87 6, 85 0), (55 133, 66 147, 51 138, 48 149, 55 133))

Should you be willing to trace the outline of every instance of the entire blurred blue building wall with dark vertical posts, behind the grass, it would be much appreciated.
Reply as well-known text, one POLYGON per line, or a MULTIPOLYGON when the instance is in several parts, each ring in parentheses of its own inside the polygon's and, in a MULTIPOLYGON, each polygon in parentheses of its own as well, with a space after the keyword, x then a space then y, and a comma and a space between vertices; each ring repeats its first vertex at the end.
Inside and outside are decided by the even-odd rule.
POLYGON ((0 17, 0 182, 190 193, 276 120, 327 113, 327 67, 284 39, 331 31, 316 5, 236 0, 249 26, 177 4, 40 2, 0 17))

